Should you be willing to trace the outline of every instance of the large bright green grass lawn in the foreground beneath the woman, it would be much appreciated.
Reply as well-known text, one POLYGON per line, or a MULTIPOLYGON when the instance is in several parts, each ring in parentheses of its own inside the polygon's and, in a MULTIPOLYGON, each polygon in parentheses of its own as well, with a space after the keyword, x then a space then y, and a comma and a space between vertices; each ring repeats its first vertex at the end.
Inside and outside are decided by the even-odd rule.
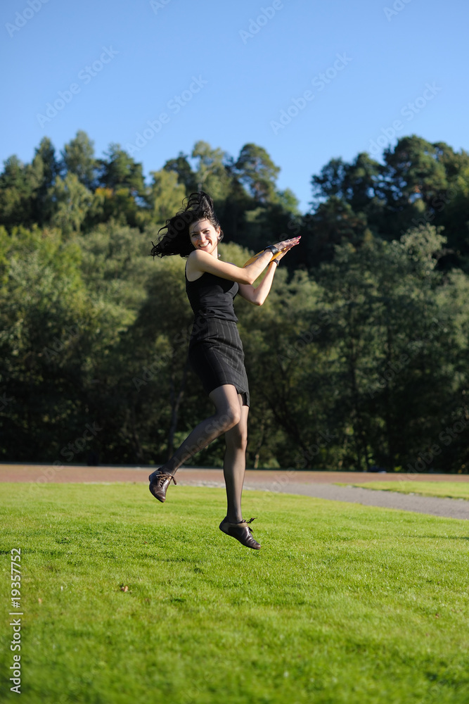
POLYGON ((168 497, 1 485, 2 701, 19 547, 23 704, 468 702, 468 522, 246 491, 252 551, 168 497))

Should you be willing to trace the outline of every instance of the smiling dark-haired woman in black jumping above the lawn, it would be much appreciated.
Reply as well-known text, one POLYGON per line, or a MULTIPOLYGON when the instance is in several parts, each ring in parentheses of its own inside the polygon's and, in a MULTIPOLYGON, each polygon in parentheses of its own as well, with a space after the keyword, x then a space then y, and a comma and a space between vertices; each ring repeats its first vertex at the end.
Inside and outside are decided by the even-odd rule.
POLYGON ((179 467, 224 434, 227 510, 219 527, 248 548, 259 550, 261 546, 252 537, 248 525, 254 519, 244 520, 241 512, 250 396, 233 298, 239 293, 255 306, 262 306, 271 289, 278 261, 298 244, 300 237, 267 246, 244 268, 219 261, 218 243, 223 231, 214 213, 213 201, 204 191, 188 196, 184 210, 167 220, 161 231, 158 243, 152 242, 153 256, 179 254, 187 258, 186 293, 195 316, 188 358, 214 404, 215 413, 200 422, 172 458, 150 474, 149 489, 158 501, 166 501, 167 488, 171 482, 176 484, 174 474, 179 467), (274 260, 273 256, 276 256, 274 260), (262 282, 254 288, 252 284, 266 268, 262 282))

